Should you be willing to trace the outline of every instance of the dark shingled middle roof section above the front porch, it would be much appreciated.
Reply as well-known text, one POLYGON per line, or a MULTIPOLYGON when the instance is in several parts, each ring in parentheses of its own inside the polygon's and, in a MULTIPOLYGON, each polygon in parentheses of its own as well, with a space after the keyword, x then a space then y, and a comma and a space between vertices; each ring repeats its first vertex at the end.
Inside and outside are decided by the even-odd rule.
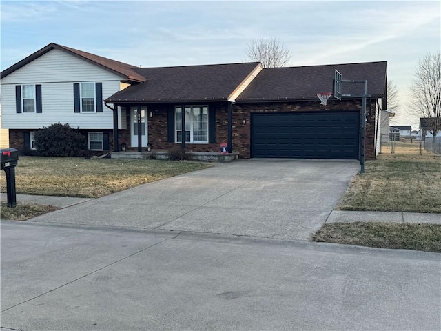
POLYGON ((252 62, 136 68, 147 81, 116 92, 105 102, 226 101, 258 66, 260 63, 252 62))

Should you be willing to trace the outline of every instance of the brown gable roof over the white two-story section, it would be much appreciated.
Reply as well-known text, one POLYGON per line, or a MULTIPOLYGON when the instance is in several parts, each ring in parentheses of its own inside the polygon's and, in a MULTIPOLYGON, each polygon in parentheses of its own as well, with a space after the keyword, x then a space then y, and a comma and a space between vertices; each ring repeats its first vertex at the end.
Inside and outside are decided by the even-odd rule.
POLYGON ((141 74, 138 74, 137 72, 134 71, 134 69, 138 68, 136 66, 132 66, 127 63, 107 59, 106 57, 99 57, 98 55, 91 54, 88 52, 83 52, 82 50, 76 50, 74 48, 58 45, 57 43, 50 43, 48 46, 41 48, 41 50, 37 50, 37 52, 30 54, 28 57, 25 57, 25 59, 15 63, 13 66, 10 66, 9 68, 3 70, 1 72, 1 78, 8 76, 8 74, 11 74, 15 70, 25 66, 26 64, 30 63, 31 61, 34 61, 34 59, 41 57, 41 55, 46 54, 47 52, 50 52, 50 50, 53 50, 53 49, 63 50, 64 52, 68 52, 70 54, 73 54, 76 57, 79 57, 85 61, 89 61, 90 63, 94 63, 97 66, 101 66, 105 70, 109 70, 111 72, 114 72, 115 74, 119 74, 119 76, 123 77, 127 81, 133 81, 133 82, 145 81, 145 77, 143 77, 141 74))

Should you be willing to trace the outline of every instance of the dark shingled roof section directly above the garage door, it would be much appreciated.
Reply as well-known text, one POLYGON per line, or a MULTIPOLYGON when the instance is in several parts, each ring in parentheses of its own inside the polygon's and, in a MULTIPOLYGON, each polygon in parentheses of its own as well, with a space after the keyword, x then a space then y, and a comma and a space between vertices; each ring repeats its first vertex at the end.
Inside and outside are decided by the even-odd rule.
MULTIPOLYGON (((334 69, 342 79, 367 80, 367 94, 382 97, 386 90, 387 61, 265 68, 236 101, 293 101, 318 99, 318 92, 332 92, 334 69)), ((362 94, 364 84, 343 83, 342 94, 362 94)))

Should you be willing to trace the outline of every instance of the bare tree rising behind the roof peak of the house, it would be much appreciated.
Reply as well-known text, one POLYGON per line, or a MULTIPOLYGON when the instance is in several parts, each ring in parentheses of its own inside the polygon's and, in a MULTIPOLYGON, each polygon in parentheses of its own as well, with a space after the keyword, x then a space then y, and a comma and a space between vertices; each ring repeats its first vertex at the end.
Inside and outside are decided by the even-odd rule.
POLYGON ((248 43, 247 59, 262 63, 263 68, 278 68, 288 65, 291 50, 285 48, 277 38, 258 38, 248 43))

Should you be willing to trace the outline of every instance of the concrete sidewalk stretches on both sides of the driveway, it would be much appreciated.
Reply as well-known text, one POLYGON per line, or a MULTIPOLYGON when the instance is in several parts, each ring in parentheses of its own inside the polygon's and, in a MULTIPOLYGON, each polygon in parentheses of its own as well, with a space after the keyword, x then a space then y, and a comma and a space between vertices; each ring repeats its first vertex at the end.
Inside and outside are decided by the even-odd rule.
MULTIPOLYGON (((17 202, 38 203, 53 205, 59 208, 68 208, 78 205, 90 198, 49 197, 45 195, 17 194, 17 202)), ((1 201, 7 201, 6 193, 1 193, 1 201)), ((326 223, 351 222, 396 222, 396 223, 433 223, 441 224, 441 214, 427 214, 418 212, 358 212, 347 210, 333 210, 326 223)))

